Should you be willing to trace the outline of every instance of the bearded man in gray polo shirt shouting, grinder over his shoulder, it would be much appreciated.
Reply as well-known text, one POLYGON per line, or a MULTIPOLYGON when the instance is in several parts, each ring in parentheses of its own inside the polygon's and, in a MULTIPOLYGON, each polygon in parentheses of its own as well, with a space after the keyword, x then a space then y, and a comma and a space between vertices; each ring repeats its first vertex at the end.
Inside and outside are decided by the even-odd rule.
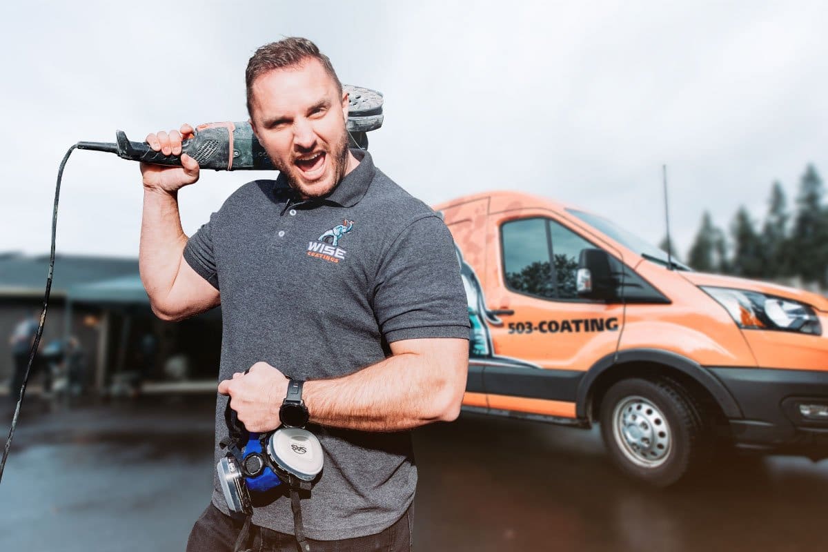
MULTIPOLYGON (((465 390, 469 318, 450 233, 368 152, 349 151, 348 96, 312 42, 262 46, 246 80, 278 179, 244 185, 188 240, 177 190, 198 180, 198 165, 142 166, 142 281, 163 319, 222 305, 215 461, 228 400, 248 431, 266 433, 280 425, 286 377, 305 381, 307 429, 325 450, 301 501, 310 550, 410 550, 407 430, 454 420, 465 390)), ((192 132, 147 143, 178 155, 192 132)), ((242 523, 219 488, 215 478, 187 550, 232 550, 242 523)), ((296 550, 286 497, 252 521, 263 550, 296 550)))

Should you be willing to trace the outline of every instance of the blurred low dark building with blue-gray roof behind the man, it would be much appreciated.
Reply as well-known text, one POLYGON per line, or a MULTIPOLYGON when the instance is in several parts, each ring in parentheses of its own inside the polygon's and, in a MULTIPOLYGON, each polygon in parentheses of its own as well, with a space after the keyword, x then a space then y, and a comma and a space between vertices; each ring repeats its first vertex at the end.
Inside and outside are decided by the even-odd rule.
MULTIPOLYGON (((41 309, 48 256, 0 254, 0 389, 12 377, 8 336, 41 309)), ((221 343, 218 309, 179 323, 157 319, 138 276, 137 259, 58 255, 39 365, 70 337, 82 352, 79 387, 103 393, 213 389, 221 343), (44 355, 44 353, 47 353, 44 355), (200 383, 199 383, 200 382, 200 383)))

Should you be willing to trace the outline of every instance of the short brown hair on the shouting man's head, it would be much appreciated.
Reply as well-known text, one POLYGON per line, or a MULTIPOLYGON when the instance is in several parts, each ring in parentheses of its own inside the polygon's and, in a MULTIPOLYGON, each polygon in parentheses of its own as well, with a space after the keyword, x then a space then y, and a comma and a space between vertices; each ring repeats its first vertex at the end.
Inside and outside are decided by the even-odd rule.
POLYGON ((253 116, 250 105, 253 96, 253 81, 267 71, 298 67, 304 65, 309 59, 318 60, 322 64, 325 73, 334 79, 339 94, 342 94, 342 83, 339 82, 339 77, 336 76, 336 71, 328 56, 321 53, 319 48, 308 39, 301 38, 301 36, 288 36, 281 41, 262 46, 248 61, 248 69, 244 72, 244 80, 248 89, 248 114, 253 116))

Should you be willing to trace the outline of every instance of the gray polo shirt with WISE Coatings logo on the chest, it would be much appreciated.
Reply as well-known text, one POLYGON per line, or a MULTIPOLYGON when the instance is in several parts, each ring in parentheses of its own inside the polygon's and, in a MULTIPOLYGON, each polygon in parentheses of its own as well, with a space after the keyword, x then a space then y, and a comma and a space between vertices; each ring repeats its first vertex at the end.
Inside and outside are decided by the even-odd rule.
MULTIPOLYGON (((460 268, 445 223, 353 150, 359 166, 325 199, 302 201, 280 175, 243 185, 190 238, 184 258, 221 291, 219 379, 268 362, 287 376, 340 377, 383 360, 388 343, 469 338, 460 268)), ((215 462, 224 457, 216 404, 215 462)), ((306 535, 377 533, 410 506, 411 435, 310 425, 325 468, 302 501, 306 535)), ((213 503, 228 513, 218 477, 213 503)), ((290 500, 256 507, 253 523, 293 533, 290 500)))

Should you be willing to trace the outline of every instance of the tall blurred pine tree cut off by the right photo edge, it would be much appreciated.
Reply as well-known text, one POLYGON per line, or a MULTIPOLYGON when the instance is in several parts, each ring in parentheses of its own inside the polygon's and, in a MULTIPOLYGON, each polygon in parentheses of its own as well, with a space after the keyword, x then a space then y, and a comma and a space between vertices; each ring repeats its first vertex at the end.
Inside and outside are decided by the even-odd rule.
POLYGON ((800 180, 797 217, 793 223, 790 250, 793 271, 809 282, 828 284, 828 215, 822 207, 822 179, 808 165, 800 180))

